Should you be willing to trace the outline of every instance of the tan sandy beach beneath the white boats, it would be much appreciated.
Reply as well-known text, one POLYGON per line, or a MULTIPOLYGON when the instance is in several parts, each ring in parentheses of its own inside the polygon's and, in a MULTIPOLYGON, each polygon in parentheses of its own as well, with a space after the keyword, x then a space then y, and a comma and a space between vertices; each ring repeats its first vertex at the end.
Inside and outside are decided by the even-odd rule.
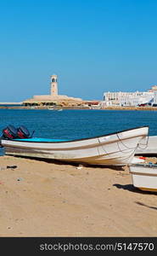
POLYGON ((77 166, 0 157, 0 236, 157 236, 157 195, 127 166, 77 166))

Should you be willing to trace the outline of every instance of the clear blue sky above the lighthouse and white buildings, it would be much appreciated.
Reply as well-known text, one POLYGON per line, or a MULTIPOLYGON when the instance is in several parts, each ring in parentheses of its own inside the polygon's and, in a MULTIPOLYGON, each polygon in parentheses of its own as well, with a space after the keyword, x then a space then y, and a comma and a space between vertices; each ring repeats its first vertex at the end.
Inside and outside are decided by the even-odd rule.
POLYGON ((59 94, 103 100, 105 91, 157 84, 156 0, 0 1, 0 102, 59 94))

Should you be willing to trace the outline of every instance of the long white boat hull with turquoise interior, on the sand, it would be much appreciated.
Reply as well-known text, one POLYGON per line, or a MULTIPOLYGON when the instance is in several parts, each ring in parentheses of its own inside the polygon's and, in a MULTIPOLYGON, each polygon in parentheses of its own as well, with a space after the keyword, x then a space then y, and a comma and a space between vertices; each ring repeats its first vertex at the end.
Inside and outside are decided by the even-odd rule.
POLYGON ((137 127, 104 136, 78 140, 42 138, 2 139, 5 154, 38 157, 101 166, 125 166, 136 163, 138 143, 148 136, 149 127, 137 127))

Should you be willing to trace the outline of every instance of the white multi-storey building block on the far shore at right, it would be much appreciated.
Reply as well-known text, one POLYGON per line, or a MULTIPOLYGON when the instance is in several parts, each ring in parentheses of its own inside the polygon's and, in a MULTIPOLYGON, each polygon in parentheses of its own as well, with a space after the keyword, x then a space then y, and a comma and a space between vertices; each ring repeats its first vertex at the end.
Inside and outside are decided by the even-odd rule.
POLYGON ((143 104, 153 105, 154 94, 157 95, 157 86, 154 89, 151 89, 148 91, 104 92, 104 106, 133 107, 133 106, 139 106, 143 104))

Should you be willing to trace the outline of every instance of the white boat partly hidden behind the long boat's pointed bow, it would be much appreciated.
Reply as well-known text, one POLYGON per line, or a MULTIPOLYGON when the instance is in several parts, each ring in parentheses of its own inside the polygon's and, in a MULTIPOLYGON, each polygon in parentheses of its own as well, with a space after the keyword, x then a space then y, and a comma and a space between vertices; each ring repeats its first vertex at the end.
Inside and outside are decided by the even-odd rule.
POLYGON ((136 154, 157 154, 157 136, 149 136, 143 138, 136 154))

